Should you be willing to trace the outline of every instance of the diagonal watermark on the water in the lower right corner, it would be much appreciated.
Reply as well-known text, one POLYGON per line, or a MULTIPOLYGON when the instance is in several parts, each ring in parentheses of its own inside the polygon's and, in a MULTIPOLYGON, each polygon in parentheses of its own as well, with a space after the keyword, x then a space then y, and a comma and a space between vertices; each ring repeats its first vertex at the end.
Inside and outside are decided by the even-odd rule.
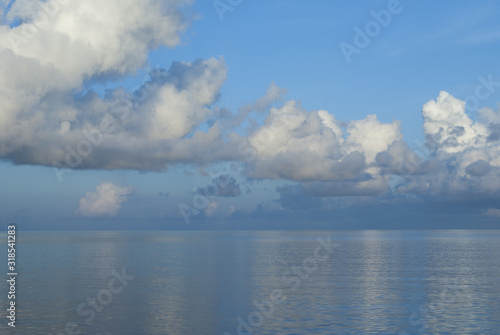
MULTIPOLYGON (((447 284, 440 292, 439 297, 432 299, 428 304, 421 305, 418 312, 412 313, 408 318, 408 323, 412 327, 419 327, 412 330, 413 334, 439 334, 438 325, 439 318, 443 311, 450 304, 460 301, 464 294, 464 287, 468 285, 465 279, 460 282, 456 279, 447 284)), ((470 286, 469 286, 470 287, 470 286)), ((412 335, 408 331, 402 331, 399 335, 412 335)))

